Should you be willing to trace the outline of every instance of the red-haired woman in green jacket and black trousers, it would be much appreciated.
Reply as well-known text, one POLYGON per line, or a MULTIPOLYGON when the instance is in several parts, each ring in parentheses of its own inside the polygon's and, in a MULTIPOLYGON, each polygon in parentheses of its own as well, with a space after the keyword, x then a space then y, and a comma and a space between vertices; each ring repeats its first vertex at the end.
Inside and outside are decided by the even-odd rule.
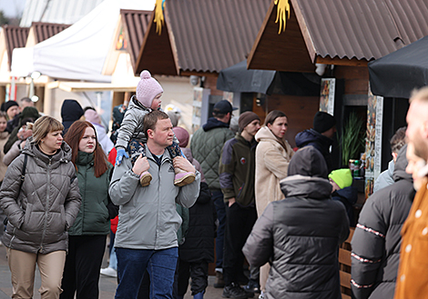
POLYGON ((98 280, 106 248, 110 219, 117 208, 108 197, 111 166, 97 142, 94 125, 76 121, 64 137, 72 149, 82 205, 75 224, 68 231, 68 254, 60 298, 96 299, 98 280))

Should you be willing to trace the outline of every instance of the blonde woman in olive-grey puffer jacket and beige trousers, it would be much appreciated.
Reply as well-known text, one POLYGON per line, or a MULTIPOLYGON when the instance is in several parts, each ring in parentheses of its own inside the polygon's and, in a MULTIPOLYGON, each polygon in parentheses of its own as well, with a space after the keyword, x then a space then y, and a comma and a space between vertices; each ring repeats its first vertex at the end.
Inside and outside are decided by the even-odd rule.
POLYGON ((58 298, 66 230, 76 219, 81 199, 71 148, 61 135, 63 125, 43 116, 32 129, 33 137, 7 168, 0 189, 0 206, 8 217, 2 242, 12 273, 12 298, 33 298, 36 264, 41 298, 58 298))

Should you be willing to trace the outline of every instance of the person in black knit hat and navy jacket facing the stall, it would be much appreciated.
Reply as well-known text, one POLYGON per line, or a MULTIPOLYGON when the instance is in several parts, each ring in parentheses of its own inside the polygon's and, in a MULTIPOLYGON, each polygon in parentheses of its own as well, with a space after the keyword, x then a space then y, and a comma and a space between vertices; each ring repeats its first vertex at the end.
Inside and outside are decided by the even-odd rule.
POLYGON ((299 148, 312 145, 319 150, 327 163, 329 173, 334 169, 331 161, 331 145, 336 133, 336 119, 326 112, 319 111, 313 117, 313 128, 296 135, 295 141, 299 148))

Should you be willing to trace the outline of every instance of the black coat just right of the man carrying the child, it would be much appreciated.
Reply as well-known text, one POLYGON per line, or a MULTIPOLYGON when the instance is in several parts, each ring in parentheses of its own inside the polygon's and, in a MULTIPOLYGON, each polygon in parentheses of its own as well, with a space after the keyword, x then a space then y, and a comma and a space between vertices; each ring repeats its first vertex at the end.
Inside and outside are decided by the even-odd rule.
POLYGON ((188 263, 214 262, 217 214, 207 183, 200 183, 199 197, 189 208, 189 229, 184 244, 178 246, 180 260, 188 263))

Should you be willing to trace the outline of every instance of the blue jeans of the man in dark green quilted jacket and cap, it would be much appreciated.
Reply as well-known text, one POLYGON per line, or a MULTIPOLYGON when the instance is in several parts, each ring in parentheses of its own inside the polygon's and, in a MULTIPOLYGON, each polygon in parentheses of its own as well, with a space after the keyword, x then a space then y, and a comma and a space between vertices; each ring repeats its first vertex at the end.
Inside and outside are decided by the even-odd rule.
POLYGON ((221 191, 211 192, 214 206, 216 207, 217 219, 219 219, 219 227, 216 237, 216 269, 223 268, 223 244, 224 244, 224 228, 226 225, 226 207, 224 205, 223 193, 221 191))

